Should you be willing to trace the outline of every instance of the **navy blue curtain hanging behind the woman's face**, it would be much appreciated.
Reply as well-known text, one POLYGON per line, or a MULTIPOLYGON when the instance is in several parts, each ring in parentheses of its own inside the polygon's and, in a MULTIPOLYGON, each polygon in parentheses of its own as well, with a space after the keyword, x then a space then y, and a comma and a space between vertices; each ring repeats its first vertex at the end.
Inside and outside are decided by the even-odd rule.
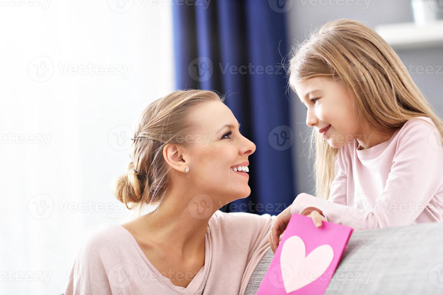
MULTIPOLYGON (((275 0, 277 3, 279 0, 275 0)), ((266 0, 195 0, 173 8, 176 87, 215 90, 241 132, 256 144, 249 157, 251 195, 221 208, 278 214, 295 198, 284 14, 266 0)))

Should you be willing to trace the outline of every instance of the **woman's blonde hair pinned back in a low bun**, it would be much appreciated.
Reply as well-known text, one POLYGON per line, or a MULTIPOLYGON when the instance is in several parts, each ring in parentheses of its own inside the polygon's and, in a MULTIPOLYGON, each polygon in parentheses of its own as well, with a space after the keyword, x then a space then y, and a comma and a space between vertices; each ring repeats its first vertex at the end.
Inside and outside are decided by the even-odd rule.
MULTIPOLYGON (((189 145, 192 134, 191 108, 207 101, 224 102, 217 93, 205 90, 178 90, 148 105, 136 123, 131 146, 132 161, 127 173, 114 186, 117 199, 131 210, 144 204, 161 204, 167 192, 169 165, 163 158, 167 143, 189 145), (128 207, 128 203, 135 206, 128 207)), ((140 212, 139 212, 140 213, 140 212)))

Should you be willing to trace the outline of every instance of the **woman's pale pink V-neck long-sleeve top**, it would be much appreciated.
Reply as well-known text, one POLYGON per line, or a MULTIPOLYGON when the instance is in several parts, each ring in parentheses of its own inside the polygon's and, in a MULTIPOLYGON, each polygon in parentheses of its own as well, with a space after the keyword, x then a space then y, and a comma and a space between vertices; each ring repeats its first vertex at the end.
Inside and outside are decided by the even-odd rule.
POLYGON ((216 211, 206 230, 205 264, 186 288, 163 276, 124 227, 93 226, 82 240, 65 295, 244 294, 270 249, 268 233, 275 218, 216 211))

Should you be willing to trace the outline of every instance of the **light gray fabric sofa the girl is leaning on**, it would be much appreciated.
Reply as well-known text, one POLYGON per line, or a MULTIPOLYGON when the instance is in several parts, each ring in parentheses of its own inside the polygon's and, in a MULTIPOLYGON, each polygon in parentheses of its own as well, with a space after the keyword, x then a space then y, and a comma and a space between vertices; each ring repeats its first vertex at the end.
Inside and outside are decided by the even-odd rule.
MULTIPOLYGON (((274 254, 249 280, 255 295, 274 254)), ((443 223, 354 231, 324 294, 443 294, 443 223)))

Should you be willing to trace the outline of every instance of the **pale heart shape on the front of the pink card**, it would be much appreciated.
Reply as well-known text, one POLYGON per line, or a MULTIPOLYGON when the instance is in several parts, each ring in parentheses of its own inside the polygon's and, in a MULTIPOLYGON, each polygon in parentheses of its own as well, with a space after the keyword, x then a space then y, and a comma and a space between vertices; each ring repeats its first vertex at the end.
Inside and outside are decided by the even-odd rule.
POLYGON ((281 273, 293 276, 289 280, 283 277, 286 293, 299 290, 317 280, 326 272, 333 259, 334 250, 330 245, 320 245, 306 256, 303 240, 299 236, 289 237, 284 242, 280 255, 281 273))

